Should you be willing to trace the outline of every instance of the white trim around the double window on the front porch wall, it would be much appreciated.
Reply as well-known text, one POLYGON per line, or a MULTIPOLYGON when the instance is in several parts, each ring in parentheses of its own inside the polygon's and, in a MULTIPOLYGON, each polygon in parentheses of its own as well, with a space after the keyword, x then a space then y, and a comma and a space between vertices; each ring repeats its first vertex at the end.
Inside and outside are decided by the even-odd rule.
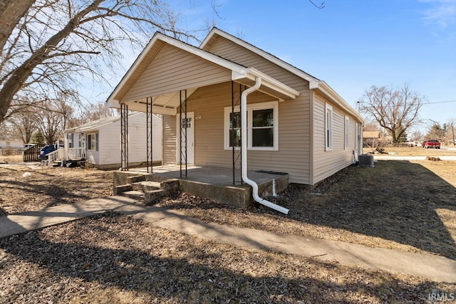
MULTIPOLYGON (((232 150, 229 147, 229 114, 232 112, 232 107, 224 108, 224 150, 232 150)), ((234 112, 239 112, 239 106, 234 108, 234 112)), ((278 151, 279 150, 279 103, 277 101, 269 101, 266 103, 253 103, 247 105, 247 150, 257 151, 278 151), (252 112, 254 110, 274 110, 274 147, 252 147, 252 112)), ((237 147, 236 149, 239 149, 237 147)))

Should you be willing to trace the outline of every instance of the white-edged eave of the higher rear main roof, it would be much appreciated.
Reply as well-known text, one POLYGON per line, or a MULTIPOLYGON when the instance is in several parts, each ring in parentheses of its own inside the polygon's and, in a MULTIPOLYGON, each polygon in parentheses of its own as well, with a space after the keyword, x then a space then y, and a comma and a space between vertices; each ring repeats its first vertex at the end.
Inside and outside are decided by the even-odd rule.
POLYGON ((219 37, 226 38, 229 41, 232 41, 233 43, 236 43, 237 45, 242 46, 243 48, 246 48, 249 51, 252 51, 253 53, 257 54, 257 56, 260 56, 266 59, 267 61, 271 61, 272 63, 279 65, 279 67, 284 68, 284 70, 289 71, 289 73, 292 73, 299 78, 309 81, 309 88, 311 90, 318 91, 326 98, 328 98, 331 102, 336 103, 336 105, 338 105, 340 108, 350 113, 354 117, 358 118, 360 122, 364 121, 363 117, 361 117, 361 115, 359 115, 359 113, 353 107, 351 107, 351 105, 349 105, 345 100, 343 100, 341 95, 338 95, 338 93, 336 93, 336 91, 333 90, 333 88, 331 88, 325 81, 319 80, 318 78, 315 78, 309 73, 304 72, 304 70, 296 68, 294 65, 282 61, 280 58, 272 55, 271 53, 263 51, 261 50, 261 48, 257 48, 256 46, 253 46, 252 44, 240 38, 234 37, 231 34, 220 30, 219 28, 212 28, 209 34, 207 34, 206 38, 204 38, 204 40, 202 41, 201 46, 199 46, 199 48, 208 50, 210 46, 212 46, 219 37))

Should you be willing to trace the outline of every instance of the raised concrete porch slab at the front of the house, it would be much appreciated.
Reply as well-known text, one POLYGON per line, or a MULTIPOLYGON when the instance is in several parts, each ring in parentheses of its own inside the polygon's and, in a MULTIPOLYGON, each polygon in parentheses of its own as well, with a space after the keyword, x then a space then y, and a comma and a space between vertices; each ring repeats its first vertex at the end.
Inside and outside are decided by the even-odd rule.
MULTIPOLYGON (((146 168, 115 172, 114 186, 127 184, 127 177, 145 175, 147 180, 156 182, 178 179, 182 191, 214 199, 224 204, 246 208, 253 201, 252 187, 240 184, 240 182, 233 184, 232 168, 187 166, 187 177, 180 176, 179 165, 157 166, 152 169, 152 174, 147 173, 146 168)), ((274 195, 288 187, 288 174, 286 173, 249 171, 248 176, 257 182, 261 197, 274 195)), ((236 177, 240 179, 240 170, 237 170, 236 177)))

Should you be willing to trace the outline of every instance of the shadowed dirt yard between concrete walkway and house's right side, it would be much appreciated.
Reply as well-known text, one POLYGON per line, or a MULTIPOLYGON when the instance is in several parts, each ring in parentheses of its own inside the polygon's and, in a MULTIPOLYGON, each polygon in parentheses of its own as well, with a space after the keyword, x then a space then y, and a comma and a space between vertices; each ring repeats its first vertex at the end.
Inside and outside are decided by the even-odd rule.
MULTIPOLYGON (((282 226, 290 222, 295 225, 291 227, 299 223, 325 226, 456 259, 456 189, 421 164, 383 161, 376 162, 374 168, 351 166, 318 184, 311 193, 290 185, 278 197, 268 199, 290 209, 289 215, 260 204, 240 210, 191 194, 166 199, 160 206, 181 209, 207 222, 271 231, 284 231, 282 226)), ((294 232, 288 229, 286 233, 294 232)), ((319 233, 317 237, 331 239, 319 233)), ((326 229, 325 233, 331 231, 326 229)), ((385 246, 390 248, 387 243, 385 246)))

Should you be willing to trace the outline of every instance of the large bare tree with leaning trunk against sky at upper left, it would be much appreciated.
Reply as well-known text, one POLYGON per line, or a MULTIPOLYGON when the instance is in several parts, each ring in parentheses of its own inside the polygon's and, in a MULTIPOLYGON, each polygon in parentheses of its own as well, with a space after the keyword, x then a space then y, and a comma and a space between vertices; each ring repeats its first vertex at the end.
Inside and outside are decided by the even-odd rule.
POLYGON ((160 0, 36 0, 1 52, 0 122, 81 77, 105 83, 103 68, 115 70, 122 43, 142 47, 154 31, 196 38, 170 16, 160 0))

